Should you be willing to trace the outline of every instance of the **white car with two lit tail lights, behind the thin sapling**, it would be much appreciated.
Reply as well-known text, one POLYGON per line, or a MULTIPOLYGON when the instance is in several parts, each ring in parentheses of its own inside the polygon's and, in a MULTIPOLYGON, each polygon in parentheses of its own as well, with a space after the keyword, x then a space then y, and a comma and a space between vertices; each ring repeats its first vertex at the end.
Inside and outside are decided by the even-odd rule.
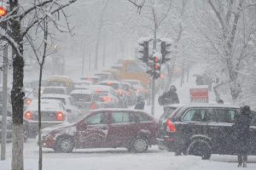
MULTIPOLYGON (((38 99, 33 99, 31 105, 24 111, 23 118, 27 122, 28 136, 34 137, 38 133, 38 99)), ((42 128, 63 122, 73 122, 73 114, 65 110, 61 101, 56 99, 41 99, 42 128)))

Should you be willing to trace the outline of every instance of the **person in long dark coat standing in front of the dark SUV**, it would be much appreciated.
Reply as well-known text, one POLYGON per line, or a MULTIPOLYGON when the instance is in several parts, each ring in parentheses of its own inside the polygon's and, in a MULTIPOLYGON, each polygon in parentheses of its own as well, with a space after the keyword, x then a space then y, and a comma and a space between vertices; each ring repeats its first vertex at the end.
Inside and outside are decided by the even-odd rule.
POLYGON ((241 107, 241 114, 236 117, 234 126, 234 133, 236 139, 236 152, 238 154, 238 167, 247 167, 247 155, 250 150, 250 124, 252 116, 250 107, 245 105, 241 107))

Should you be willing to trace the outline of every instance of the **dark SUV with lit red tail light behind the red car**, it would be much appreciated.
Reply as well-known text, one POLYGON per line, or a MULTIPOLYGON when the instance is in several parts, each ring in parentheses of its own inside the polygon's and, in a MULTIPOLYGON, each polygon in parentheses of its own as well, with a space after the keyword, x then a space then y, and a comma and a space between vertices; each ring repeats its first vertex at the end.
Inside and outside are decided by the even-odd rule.
MULTIPOLYGON (((166 106, 160 117, 157 142, 160 150, 201 156, 236 154, 232 125, 239 114, 235 105, 189 104, 166 106)), ((256 155, 256 121, 253 111, 251 155, 256 155)))

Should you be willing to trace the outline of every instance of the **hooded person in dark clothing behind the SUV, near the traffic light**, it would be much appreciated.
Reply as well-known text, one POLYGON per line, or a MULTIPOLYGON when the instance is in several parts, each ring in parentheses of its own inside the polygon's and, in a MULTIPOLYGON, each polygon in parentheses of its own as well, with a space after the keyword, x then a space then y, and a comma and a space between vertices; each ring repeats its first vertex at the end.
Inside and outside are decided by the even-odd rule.
POLYGON ((177 88, 174 85, 172 85, 168 92, 162 94, 158 98, 159 105, 178 104, 179 103, 179 99, 177 97, 176 91, 177 91, 177 88))

